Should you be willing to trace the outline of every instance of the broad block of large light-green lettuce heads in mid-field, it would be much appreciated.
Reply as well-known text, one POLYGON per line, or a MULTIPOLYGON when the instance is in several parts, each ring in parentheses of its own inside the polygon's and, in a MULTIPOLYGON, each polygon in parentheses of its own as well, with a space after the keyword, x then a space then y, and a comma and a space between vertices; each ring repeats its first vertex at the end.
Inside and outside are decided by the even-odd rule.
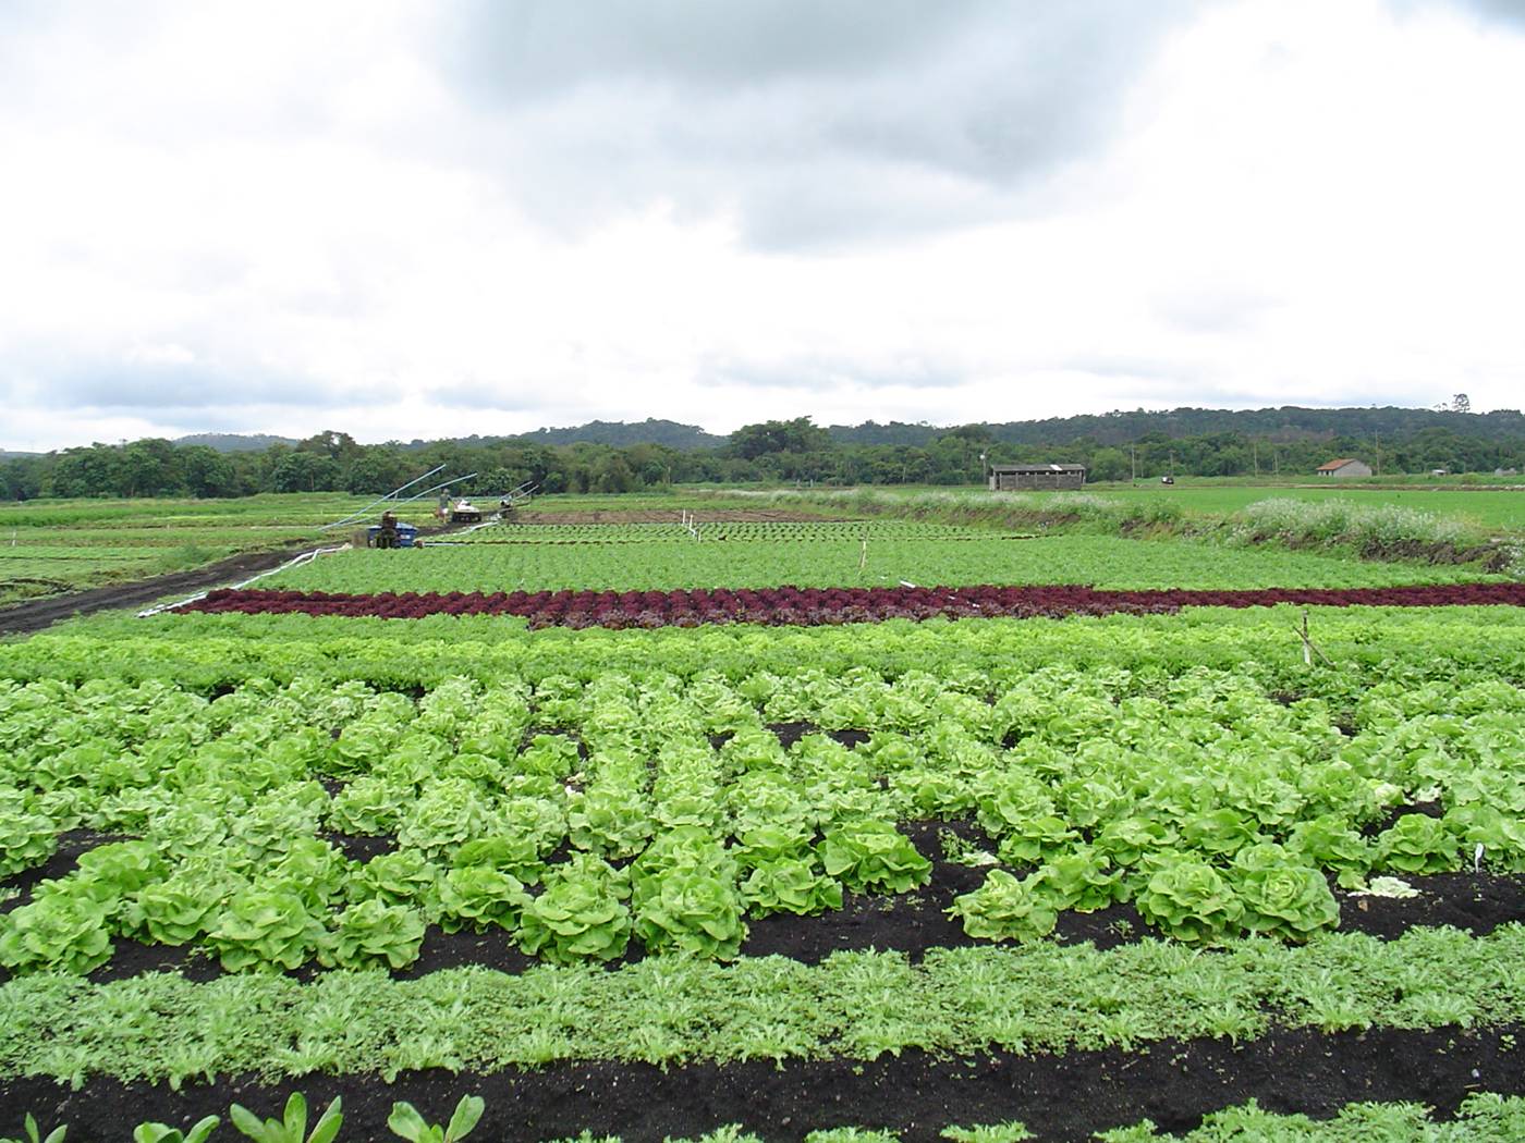
POLYGON ((857 668, 363 683, 0 683, 0 873, 85 852, 0 916, 0 965, 88 972, 113 939, 223 968, 413 963, 430 925, 566 963, 738 956, 747 917, 907 893, 909 820, 973 821, 953 911, 1039 939, 1132 901, 1188 942, 1339 924, 1328 876, 1525 870, 1525 692, 1406 674, 1344 706, 1238 672, 857 668), (848 748, 773 725, 856 730, 848 748), (389 837, 358 861, 328 835, 389 837))

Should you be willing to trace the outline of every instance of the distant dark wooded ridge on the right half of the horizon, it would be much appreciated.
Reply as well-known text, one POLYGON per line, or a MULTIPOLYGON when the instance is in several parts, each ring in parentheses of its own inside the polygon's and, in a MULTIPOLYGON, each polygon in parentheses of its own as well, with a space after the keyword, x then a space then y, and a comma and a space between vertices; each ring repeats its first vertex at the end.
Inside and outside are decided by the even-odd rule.
MULTIPOLYGON (((1136 410, 1045 421, 1005 421, 979 425, 996 440, 1014 445, 1055 445, 1089 437, 1101 445, 1125 445, 1150 433, 1167 437, 1206 433, 1243 433, 1272 440, 1307 440, 1336 436, 1369 437, 1374 433, 1406 437, 1426 428, 1444 428, 1459 436, 1496 440, 1525 436, 1525 413, 1501 408, 1493 413, 1443 413, 1432 408, 1171 408, 1136 410)), ((880 425, 831 425, 827 431, 845 445, 924 445, 950 428, 892 421, 880 425)))

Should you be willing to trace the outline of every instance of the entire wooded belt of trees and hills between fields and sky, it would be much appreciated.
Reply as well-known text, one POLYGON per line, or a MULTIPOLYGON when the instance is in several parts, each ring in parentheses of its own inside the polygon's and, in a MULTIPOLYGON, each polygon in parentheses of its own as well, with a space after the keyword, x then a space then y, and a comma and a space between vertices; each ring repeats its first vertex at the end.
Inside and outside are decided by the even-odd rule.
POLYGON ((435 465, 448 475, 476 472, 456 491, 491 497, 525 482, 547 492, 628 492, 692 482, 968 485, 982 479, 988 463, 1002 462, 1083 463, 1090 482, 1167 472, 1296 480, 1313 479, 1315 469, 1333 457, 1357 457, 1388 475, 1443 468, 1511 477, 1525 469, 1525 418, 1513 410, 1186 408, 956 428, 868 422, 828 430, 796 418, 744 425, 729 437, 647 421, 593 422, 528 437, 384 445, 361 445, 346 433, 323 431, 296 443, 246 451, 149 439, 3 460, 0 495, 381 494, 435 465), (583 431, 607 439, 558 442, 583 431), (665 440, 642 439, 647 434, 665 440), (552 436, 555 440, 547 442, 552 436), (692 442, 698 439, 712 443, 697 447, 692 442))

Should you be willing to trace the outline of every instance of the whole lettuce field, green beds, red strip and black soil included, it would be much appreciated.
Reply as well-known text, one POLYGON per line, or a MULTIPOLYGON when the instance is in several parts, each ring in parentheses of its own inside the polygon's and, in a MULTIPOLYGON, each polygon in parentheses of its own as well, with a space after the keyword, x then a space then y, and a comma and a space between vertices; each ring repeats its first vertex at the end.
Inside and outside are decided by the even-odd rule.
POLYGON ((0 1138, 1525 1137, 1519 584, 697 532, 0 645, 0 1138))

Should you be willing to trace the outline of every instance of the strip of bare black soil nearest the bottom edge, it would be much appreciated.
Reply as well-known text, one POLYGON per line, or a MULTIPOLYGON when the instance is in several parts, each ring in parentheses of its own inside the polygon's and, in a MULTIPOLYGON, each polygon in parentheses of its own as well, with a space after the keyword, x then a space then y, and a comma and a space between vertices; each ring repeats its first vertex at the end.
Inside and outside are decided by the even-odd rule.
POLYGON ((390 1140, 395 1100, 432 1122, 450 1117, 461 1096, 477 1094, 486 1113, 480 1140, 547 1140, 590 1131, 625 1143, 694 1137, 743 1123, 766 1140, 801 1140, 831 1126, 889 1128, 907 1143, 932 1143, 947 1125, 1020 1120, 1039 1140, 1069 1143, 1092 1132, 1151 1119, 1164 1129, 1196 1128, 1208 1113, 1255 1099, 1278 1111, 1328 1117, 1357 1100, 1417 1100, 1441 1117, 1473 1091, 1525 1094, 1514 1041, 1519 1023, 1487 1030, 1383 1029, 1324 1035, 1275 1030, 1260 1039, 1161 1041, 1135 1052, 1071 1052, 938 1059, 923 1052, 872 1062, 828 1059, 691 1064, 580 1062, 535 1071, 307 1076, 267 1085, 247 1076, 218 1084, 120 1084, 93 1079, 79 1091, 47 1079, 0 1082, 0 1131, 20 1135, 24 1111, 44 1131, 69 1125, 69 1137, 119 1138, 142 1120, 186 1126, 201 1116, 226 1119, 239 1102, 278 1117, 285 1096, 307 1094, 311 1114, 343 1096, 346 1143, 390 1140))

